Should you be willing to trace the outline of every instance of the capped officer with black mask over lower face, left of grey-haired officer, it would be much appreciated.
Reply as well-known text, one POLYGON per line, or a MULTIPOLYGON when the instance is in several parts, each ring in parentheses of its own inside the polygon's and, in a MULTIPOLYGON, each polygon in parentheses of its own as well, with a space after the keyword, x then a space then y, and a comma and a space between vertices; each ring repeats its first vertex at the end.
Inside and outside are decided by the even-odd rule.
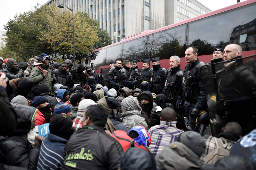
POLYGON ((165 79, 167 70, 161 68, 160 58, 151 59, 153 69, 150 69, 148 91, 155 94, 163 94, 165 90, 165 79))

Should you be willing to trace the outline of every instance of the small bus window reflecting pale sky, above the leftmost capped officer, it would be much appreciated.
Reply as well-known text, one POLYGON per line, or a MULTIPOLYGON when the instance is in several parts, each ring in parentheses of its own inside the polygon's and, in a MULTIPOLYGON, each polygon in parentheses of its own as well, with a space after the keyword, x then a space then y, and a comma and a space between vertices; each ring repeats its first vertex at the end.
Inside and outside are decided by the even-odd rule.
POLYGON ((107 48, 106 62, 109 65, 110 61, 116 61, 117 59, 122 59, 123 54, 123 44, 118 44, 116 46, 107 48))

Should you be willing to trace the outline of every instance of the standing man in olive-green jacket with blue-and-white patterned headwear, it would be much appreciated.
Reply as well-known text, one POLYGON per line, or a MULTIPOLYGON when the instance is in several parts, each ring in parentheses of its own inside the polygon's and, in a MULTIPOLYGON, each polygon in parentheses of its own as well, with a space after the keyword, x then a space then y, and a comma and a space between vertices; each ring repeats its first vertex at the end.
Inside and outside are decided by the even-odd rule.
POLYGON ((50 88, 50 94, 52 94, 52 87, 57 81, 57 78, 52 79, 51 69, 53 64, 53 59, 47 54, 40 55, 40 61, 34 63, 32 71, 29 78, 31 78, 35 83, 45 82, 50 88))

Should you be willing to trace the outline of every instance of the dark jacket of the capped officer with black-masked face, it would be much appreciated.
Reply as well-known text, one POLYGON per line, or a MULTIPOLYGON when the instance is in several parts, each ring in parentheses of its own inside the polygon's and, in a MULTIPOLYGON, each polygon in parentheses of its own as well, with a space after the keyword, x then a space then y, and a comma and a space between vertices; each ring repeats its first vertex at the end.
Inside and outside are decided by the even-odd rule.
POLYGON ((162 67, 159 67, 156 71, 153 69, 150 69, 149 73, 149 84, 148 84, 148 91, 151 93, 157 92, 157 93, 163 93, 165 90, 165 79, 167 70, 162 69, 162 67))

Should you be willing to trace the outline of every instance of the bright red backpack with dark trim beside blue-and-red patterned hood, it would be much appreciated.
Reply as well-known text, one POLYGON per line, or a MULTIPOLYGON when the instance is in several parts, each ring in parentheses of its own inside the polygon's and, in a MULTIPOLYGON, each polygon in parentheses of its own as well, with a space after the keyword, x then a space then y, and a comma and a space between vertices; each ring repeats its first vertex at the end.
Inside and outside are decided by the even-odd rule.
POLYGON ((149 149, 147 149, 145 146, 137 145, 137 142, 129 137, 125 131, 114 131, 112 137, 120 143, 124 152, 130 147, 137 147, 150 153, 149 149))

